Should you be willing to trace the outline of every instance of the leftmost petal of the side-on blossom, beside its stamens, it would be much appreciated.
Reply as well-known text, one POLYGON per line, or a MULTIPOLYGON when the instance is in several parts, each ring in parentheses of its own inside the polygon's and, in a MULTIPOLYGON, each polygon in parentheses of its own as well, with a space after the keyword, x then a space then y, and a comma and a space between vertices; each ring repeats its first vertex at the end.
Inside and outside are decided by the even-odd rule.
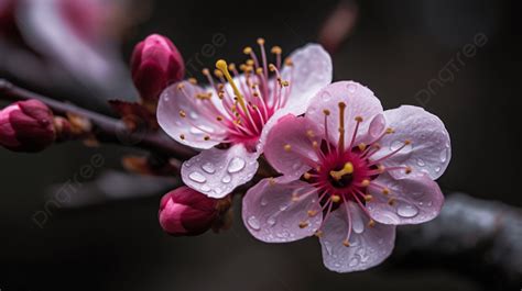
MULTIPOLYGON (((209 101, 196 98, 197 93, 203 92, 206 91, 187 81, 170 86, 160 97, 157 122, 176 142, 206 149, 225 138, 226 128, 216 121, 217 114, 209 113, 209 101), (186 94, 178 89, 180 85, 184 86, 186 94), (182 111, 184 117, 181 115, 182 111), (205 136, 209 136, 210 139, 205 141, 205 136)), ((213 98, 217 99, 216 96, 213 98)))

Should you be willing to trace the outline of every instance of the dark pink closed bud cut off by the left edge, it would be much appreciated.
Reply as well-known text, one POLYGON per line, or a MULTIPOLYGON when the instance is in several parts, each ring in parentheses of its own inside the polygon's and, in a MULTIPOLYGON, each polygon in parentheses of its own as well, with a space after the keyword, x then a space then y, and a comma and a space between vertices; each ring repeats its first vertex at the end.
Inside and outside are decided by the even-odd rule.
POLYGON ((53 112, 39 100, 15 102, 0 111, 0 145, 14 152, 40 152, 56 139, 53 112))

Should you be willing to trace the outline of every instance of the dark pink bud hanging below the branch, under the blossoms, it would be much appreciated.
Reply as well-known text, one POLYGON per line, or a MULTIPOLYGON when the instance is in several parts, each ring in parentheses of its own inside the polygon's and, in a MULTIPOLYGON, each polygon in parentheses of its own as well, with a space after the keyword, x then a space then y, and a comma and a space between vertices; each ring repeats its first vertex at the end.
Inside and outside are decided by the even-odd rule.
POLYGON ((159 214, 163 231, 175 236, 203 234, 213 226, 218 215, 218 200, 186 186, 162 198, 159 214))

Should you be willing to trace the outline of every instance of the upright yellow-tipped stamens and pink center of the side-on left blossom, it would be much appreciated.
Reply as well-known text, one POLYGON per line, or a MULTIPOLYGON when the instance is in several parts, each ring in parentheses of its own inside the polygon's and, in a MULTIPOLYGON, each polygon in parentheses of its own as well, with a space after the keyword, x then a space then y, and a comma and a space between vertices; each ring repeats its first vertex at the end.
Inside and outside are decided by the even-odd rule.
MULTIPOLYGON (((269 119, 286 105, 292 90, 292 61, 290 58, 284 61, 290 68, 287 76, 290 80, 283 80, 280 72, 281 47, 272 47, 271 53, 275 55, 275 64, 269 64, 264 40, 258 38, 258 45, 261 60, 251 47, 246 47, 243 53, 249 59, 239 66, 241 75, 235 64, 227 64, 224 59, 216 63, 217 69, 214 71, 214 77, 209 69, 203 70, 211 90, 197 93, 195 98, 202 101, 203 111, 214 116, 215 123, 227 128, 226 136, 215 136, 210 132, 205 132, 205 128, 198 128, 207 133, 205 141, 219 138, 222 143, 242 143, 247 148, 254 149, 269 119), (216 100, 216 97, 219 100, 216 100)), ((193 78, 189 81, 196 83, 193 78)), ((186 114, 180 112, 182 113, 186 114)))

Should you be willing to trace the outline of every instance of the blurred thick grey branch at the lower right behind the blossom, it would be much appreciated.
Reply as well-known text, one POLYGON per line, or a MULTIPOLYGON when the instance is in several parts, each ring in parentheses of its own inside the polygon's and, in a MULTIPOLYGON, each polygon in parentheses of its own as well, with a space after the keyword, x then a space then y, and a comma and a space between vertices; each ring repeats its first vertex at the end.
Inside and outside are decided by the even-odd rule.
POLYGON ((450 193, 437 219, 400 227, 393 261, 444 268, 493 290, 522 286, 522 210, 450 193))

